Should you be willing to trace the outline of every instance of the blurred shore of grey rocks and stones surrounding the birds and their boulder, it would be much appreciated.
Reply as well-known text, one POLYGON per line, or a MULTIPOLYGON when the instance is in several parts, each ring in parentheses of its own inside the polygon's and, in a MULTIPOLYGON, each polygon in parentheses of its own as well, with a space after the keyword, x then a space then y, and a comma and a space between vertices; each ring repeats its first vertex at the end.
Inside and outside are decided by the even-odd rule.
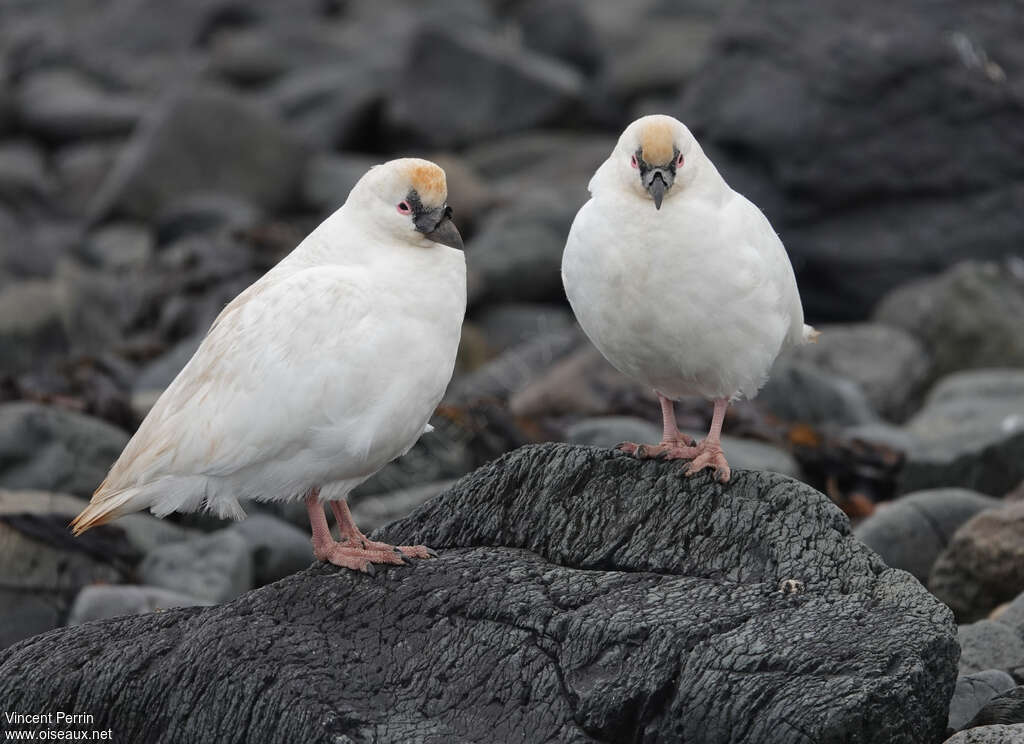
MULTIPOLYGON (((768 214, 823 332, 733 406, 730 462, 827 494, 952 610, 961 676, 929 741, 1011 741, 1022 37, 1012 0, 0 4, 0 648, 159 608, 227 617, 308 567, 301 509, 66 525, 219 308, 396 155, 447 172, 470 310, 436 431, 358 489, 359 523, 530 442, 656 439, 656 401, 582 336, 558 266, 616 133, 666 112, 768 214)), ((707 427, 707 403, 678 407, 707 427)))

